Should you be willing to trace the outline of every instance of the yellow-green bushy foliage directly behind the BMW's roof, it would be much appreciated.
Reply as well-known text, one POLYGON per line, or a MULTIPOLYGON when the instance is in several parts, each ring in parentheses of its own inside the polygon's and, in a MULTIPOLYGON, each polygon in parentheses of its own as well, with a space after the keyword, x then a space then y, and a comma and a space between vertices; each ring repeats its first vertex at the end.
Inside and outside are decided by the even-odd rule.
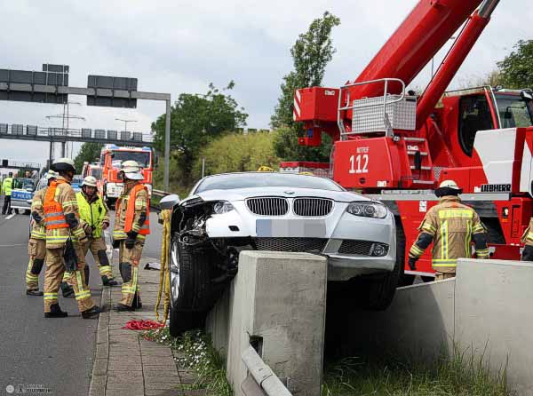
POLYGON ((269 132, 229 133, 212 140, 196 160, 195 178, 202 176, 202 158, 206 174, 258 170, 262 165, 277 169, 280 162, 269 132))

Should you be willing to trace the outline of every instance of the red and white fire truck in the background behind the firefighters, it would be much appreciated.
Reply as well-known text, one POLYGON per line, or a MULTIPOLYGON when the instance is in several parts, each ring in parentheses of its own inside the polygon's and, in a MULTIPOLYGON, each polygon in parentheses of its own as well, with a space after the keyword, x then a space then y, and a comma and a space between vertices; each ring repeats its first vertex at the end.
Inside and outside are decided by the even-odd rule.
POLYGON ((107 206, 112 207, 118 197, 123 193, 123 179, 120 175, 124 161, 136 161, 142 168, 148 194, 152 195, 152 172, 154 170, 154 153, 150 147, 118 147, 106 145, 100 154, 99 167, 101 179, 99 193, 104 197, 107 206))

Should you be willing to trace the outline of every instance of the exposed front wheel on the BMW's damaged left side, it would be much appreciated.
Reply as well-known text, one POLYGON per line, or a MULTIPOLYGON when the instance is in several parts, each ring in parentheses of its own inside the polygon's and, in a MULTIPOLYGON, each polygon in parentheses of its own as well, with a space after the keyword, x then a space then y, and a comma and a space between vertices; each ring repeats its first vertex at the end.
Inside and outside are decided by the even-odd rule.
POLYGON ((179 242, 178 233, 172 234, 169 257, 171 333, 180 334, 199 326, 221 296, 223 289, 211 282, 212 262, 209 249, 184 245, 179 242))

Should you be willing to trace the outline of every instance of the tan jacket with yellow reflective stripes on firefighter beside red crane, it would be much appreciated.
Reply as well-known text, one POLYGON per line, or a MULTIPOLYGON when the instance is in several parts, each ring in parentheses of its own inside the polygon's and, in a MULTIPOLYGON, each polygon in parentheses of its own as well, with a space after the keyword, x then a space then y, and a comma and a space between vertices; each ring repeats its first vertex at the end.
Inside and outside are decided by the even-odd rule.
MULTIPOLYGON (((435 271, 455 272, 457 258, 472 257, 474 234, 485 233, 478 214, 462 204, 456 196, 442 197, 439 204, 427 211, 418 227, 421 233, 433 238, 432 263, 435 271)), ((424 249, 415 242, 410 249, 410 257, 420 257, 424 249)), ((477 249, 478 258, 488 258, 489 249, 477 249)))

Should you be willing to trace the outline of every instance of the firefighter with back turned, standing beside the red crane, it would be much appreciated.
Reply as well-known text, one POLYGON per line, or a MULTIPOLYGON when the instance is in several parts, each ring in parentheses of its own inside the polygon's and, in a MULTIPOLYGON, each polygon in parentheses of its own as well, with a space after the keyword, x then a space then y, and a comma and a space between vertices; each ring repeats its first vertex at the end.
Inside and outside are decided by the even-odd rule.
POLYGON ((453 180, 445 180, 435 190, 439 204, 427 211, 418 227, 420 234, 409 252, 410 269, 416 270, 417 260, 434 242, 432 256, 435 280, 453 278, 457 258, 472 257, 471 242, 478 258, 489 258, 485 228, 472 208, 461 203, 462 190, 453 180))

